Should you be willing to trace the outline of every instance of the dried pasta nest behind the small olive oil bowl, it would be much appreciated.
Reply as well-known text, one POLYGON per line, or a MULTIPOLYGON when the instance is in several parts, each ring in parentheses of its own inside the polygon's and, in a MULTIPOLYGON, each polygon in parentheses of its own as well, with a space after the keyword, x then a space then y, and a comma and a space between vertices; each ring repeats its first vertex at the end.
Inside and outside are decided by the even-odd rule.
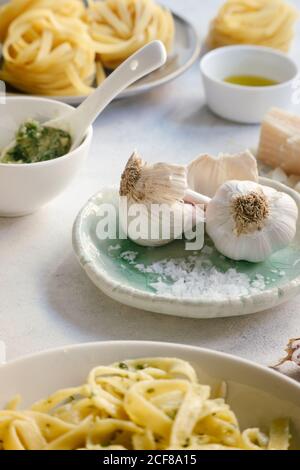
POLYGON ((212 22, 208 42, 212 48, 254 44, 287 52, 298 16, 285 0, 226 0, 212 22))

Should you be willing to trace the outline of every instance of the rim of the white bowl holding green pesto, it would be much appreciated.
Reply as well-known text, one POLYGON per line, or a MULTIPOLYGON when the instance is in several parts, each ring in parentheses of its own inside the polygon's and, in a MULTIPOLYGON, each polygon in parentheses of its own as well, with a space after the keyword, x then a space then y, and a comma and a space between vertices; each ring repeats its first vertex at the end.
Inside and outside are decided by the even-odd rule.
MULTIPOLYGON (((53 100, 49 99, 49 98, 44 98, 44 97, 39 97, 39 96, 26 96, 26 95, 20 95, 20 96, 7 96, 6 97, 6 100, 7 101, 21 101, 21 100, 25 100, 25 101, 29 101, 29 102, 32 102, 32 101, 35 101, 35 102, 41 102, 43 101, 44 104, 49 104, 49 105, 53 105, 53 100)), ((73 106, 71 106, 70 104, 67 104, 67 103, 63 103, 63 102, 58 102, 59 106, 62 106, 62 107, 65 107, 66 110, 68 109, 69 111, 71 110, 74 110, 73 106)), ((17 130, 17 129, 16 129, 17 130)), ((87 130, 87 134, 85 136, 85 138, 83 139, 82 143, 76 147, 74 150, 72 150, 71 152, 68 152, 66 153, 65 155, 62 155, 61 157, 58 157, 58 158, 54 158, 52 160, 45 160, 43 162, 34 162, 34 163, 1 163, 0 161, 0 168, 1 167, 5 167, 5 168, 33 168, 33 167, 40 167, 40 166, 51 166, 51 165, 55 165, 57 164, 59 161, 62 161, 62 160, 68 160, 69 158, 72 158, 74 156, 74 153, 75 152, 78 152, 80 150, 82 150, 82 147, 84 147, 87 143, 87 141, 89 141, 91 138, 92 138, 92 135, 93 135, 93 127, 90 126, 87 130)))

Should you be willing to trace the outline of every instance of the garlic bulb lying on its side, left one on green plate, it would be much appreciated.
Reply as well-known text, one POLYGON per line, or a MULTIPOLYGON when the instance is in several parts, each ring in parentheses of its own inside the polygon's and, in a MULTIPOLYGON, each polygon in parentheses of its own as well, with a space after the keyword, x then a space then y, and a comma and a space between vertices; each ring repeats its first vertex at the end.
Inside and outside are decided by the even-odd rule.
POLYGON ((203 224, 203 210, 184 203, 186 190, 184 166, 148 164, 134 152, 120 183, 119 216, 125 234, 142 246, 163 246, 203 224))

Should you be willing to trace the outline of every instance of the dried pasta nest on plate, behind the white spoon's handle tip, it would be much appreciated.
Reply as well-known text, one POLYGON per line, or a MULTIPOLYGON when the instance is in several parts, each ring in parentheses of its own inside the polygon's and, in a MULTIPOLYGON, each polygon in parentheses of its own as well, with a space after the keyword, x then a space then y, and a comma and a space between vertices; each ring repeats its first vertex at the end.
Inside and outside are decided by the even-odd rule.
POLYGON ((170 51, 174 39, 172 14, 152 0, 89 1, 85 19, 101 62, 109 69, 154 39, 170 51))

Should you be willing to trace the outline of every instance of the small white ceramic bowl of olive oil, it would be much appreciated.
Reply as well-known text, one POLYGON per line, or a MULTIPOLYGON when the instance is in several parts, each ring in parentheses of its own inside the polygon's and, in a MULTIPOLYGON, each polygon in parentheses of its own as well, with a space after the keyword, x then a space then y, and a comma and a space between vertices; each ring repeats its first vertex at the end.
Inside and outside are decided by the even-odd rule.
POLYGON ((209 108, 231 121, 255 124, 272 107, 292 103, 296 63, 287 55, 267 47, 228 46, 206 54, 200 62, 209 108), (279 82, 278 85, 250 87, 224 82, 232 75, 255 75, 279 82))

